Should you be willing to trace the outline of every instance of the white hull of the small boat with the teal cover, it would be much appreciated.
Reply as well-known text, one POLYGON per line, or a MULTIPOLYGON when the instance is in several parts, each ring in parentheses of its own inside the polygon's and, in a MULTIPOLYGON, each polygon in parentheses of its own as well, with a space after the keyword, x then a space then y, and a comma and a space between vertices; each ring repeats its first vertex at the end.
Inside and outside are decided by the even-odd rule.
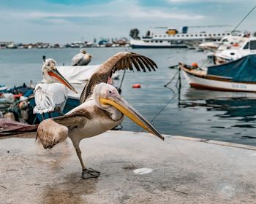
POLYGON ((235 91, 235 92, 253 92, 256 93, 256 84, 245 82, 230 82, 227 79, 221 79, 193 74, 187 68, 181 68, 185 78, 191 87, 204 90, 235 91))

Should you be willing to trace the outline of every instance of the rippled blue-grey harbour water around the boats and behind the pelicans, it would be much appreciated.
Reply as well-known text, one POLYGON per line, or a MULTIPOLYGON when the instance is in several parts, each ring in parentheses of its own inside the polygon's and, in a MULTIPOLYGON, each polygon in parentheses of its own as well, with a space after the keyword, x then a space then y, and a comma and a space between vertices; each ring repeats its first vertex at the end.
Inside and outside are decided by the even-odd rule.
MULTIPOLYGON (((42 55, 53 58, 59 65, 70 65, 80 49, 0 50, 0 85, 13 87, 42 79, 42 55)), ((87 48, 94 56, 91 65, 103 63, 122 47, 87 48)), ((146 55, 157 63, 157 71, 147 73, 126 71, 121 95, 138 109, 155 127, 170 135, 230 141, 256 145, 255 93, 230 93, 195 90, 181 74, 181 93, 178 93, 177 69, 168 66, 178 62, 208 63, 204 52, 187 49, 129 49, 146 55), (170 79, 176 78, 164 87, 170 79), (140 83, 140 89, 132 85, 140 83)), ((123 72, 120 71, 120 76, 123 72)), ((121 77, 120 77, 121 78, 121 77)), ((120 81, 114 81, 116 87, 120 81)), ((124 119, 122 130, 141 131, 141 128, 124 119)))

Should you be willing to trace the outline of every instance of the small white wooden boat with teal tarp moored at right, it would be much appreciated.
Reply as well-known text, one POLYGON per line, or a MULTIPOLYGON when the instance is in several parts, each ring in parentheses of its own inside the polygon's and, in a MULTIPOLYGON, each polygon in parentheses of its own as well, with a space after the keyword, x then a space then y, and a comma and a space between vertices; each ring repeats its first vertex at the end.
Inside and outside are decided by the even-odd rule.
POLYGON ((246 55, 230 63, 208 66, 206 70, 184 63, 179 63, 179 67, 191 87, 256 93, 256 55, 246 55))

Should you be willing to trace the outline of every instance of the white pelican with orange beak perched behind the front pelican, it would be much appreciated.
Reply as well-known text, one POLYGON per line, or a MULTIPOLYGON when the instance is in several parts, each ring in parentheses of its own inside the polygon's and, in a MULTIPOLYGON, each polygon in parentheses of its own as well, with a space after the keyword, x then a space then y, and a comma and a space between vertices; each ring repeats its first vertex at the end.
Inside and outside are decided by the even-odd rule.
POLYGON ((62 113, 67 100, 67 87, 77 93, 56 68, 56 61, 49 58, 42 65, 43 82, 34 88, 36 106, 34 114, 44 114, 49 111, 62 113))

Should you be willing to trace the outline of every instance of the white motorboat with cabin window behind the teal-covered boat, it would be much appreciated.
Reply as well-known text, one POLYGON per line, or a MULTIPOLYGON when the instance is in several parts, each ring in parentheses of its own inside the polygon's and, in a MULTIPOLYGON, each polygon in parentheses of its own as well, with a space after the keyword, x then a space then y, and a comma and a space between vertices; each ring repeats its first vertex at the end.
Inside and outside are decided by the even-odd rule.
POLYGON ((256 37, 247 38, 246 41, 238 47, 229 50, 223 50, 222 52, 217 52, 214 54, 214 63, 221 64, 227 63, 233 60, 237 60, 246 55, 256 54, 256 37))

